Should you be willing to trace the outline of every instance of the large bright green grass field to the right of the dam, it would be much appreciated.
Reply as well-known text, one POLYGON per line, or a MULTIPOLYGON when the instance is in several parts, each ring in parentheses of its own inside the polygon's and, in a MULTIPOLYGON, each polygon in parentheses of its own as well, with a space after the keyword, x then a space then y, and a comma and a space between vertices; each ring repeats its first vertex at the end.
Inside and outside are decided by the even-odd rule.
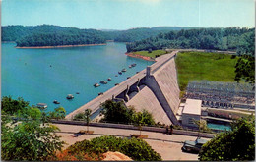
POLYGON ((178 72, 178 84, 181 96, 189 81, 234 81, 235 64, 238 57, 231 59, 231 55, 205 53, 205 52, 182 52, 176 57, 178 72))

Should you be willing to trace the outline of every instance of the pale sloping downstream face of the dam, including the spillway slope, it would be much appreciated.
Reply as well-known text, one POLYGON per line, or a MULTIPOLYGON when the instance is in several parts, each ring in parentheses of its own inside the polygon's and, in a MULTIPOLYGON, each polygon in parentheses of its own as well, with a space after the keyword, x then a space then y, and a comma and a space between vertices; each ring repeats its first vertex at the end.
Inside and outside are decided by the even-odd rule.
MULTIPOLYGON (((143 104, 146 104, 145 108, 149 112, 162 112, 163 110, 165 115, 167 115, 168 120, 166 120, 165 116, 162 114, 157 113, 153 113, 154 118, 164 118, 165 124, 169 124, 171 122, 174 125, 179 125, 179 122, 176 118, 176 113, 180 103, 180 90, 177 82, 177 73, 174 61, 175 55, 176 53, 171 53, 168 55, 163 55, 164 57, 158 58, 157 63, 147 67, 146 78, 142 80, 153 92, 158 102, 153 102, 154 100, 152 99, 152 101, 149 101, 149 103, 145 103, 145 96, 141 95, 140 91, 139 94, 137 94, 139 96, 132 98, 128 104, 131 105, 131 103, 136 102, 135 105, 137 107, 145 107, 143 104), (135 99, 137 101, 133 101, 135 99), (142 102, 138 103, 140 101, 142 102), (153 109, 156 110, 153 111, 153 109)), ((150 92, 148 95, 150 95, 150 92)), ((151 96, 151 98, 153 97, 151 96)))

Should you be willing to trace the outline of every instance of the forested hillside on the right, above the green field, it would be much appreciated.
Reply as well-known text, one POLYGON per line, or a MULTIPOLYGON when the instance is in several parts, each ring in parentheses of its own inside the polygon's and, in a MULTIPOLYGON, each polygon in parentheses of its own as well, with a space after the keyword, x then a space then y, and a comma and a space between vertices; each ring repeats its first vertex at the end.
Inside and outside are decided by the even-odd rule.
POLYGON ((254 28, 198 28, 160 33, 127 44, 127 52, 164 48, 237 50, 254 43, 254 28))

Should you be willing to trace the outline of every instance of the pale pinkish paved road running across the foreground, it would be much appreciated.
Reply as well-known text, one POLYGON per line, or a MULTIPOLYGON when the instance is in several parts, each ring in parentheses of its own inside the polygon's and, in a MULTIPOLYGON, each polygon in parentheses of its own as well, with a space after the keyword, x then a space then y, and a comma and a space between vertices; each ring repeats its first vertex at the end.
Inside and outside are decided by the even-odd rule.
MULTIPOLYGON (((73 137, 74 133, 80 130, 86 130, 86 126, 74 126, 74 125, 63 125, 54 124, 59 127, 61 132, 57 133, 62 136, 62 140, 67 143, 65 148, 69 145, 74 144, 76 141, 82 141, 84 139, 92 139, 101 135, 115 135, 120 137, 127 137, 130 134, 139 134, 139 131, 135 130, 124 130, 124 129, 113 129, 113 128, 99 128, 90 127, 90 131, 94 131, 94 135, 80 135, 73 137)), ((198 160, 197 154, 185 153, 181 151, 182 142, 185 140, 195 140, 195 136, 188 135, 165 135, 162 133, 154 132, 142 132, 143 135, 148 135, 148 139, 145 139, 154 150, 160 153, 163 160, 198 160)), ((209 140, 209 139, 208 139, 209 140)))

